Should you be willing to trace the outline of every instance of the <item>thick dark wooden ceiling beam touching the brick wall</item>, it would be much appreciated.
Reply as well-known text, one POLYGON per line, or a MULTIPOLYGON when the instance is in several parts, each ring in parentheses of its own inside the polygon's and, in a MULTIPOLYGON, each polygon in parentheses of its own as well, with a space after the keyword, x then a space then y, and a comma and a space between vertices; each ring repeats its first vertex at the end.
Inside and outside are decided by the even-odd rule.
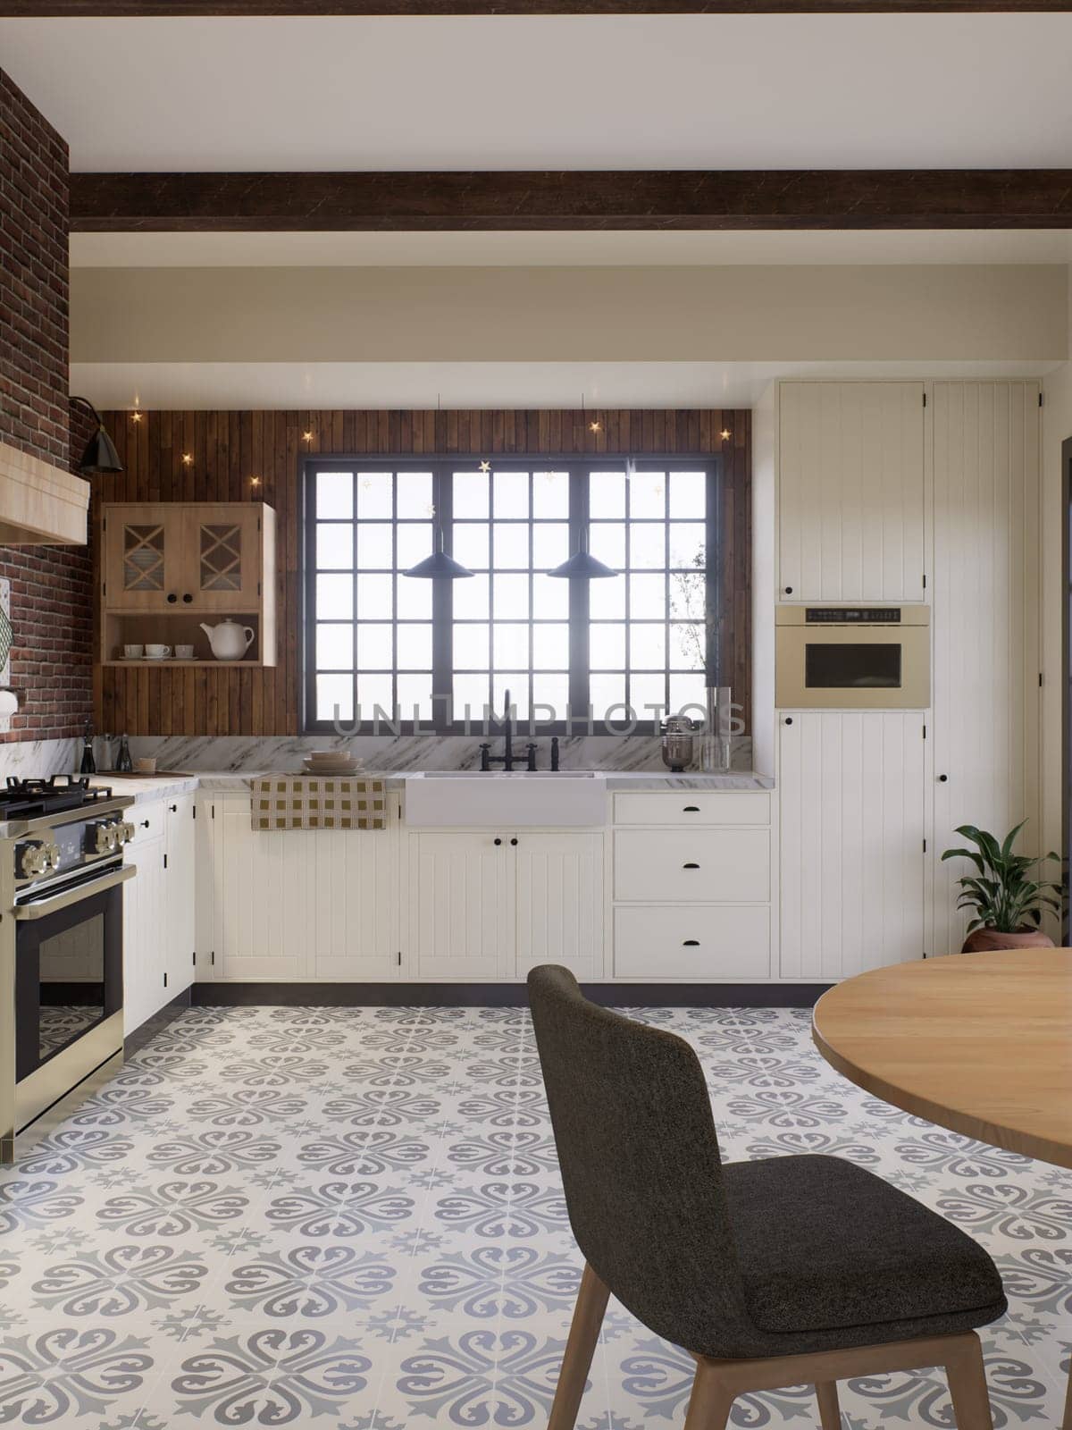
POLYGON ((76 173, 71 229, 1069 229, 1072 169, 76 173))

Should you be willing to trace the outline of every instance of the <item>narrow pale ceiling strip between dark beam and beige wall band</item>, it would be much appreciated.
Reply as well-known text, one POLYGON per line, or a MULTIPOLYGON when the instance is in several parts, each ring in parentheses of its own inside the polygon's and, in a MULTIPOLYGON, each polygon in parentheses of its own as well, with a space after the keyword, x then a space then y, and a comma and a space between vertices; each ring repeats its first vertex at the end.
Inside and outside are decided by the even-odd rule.
POLYGON ((74 267, 1069 263, 1061 229, 780 233, 73 233, 74 267))

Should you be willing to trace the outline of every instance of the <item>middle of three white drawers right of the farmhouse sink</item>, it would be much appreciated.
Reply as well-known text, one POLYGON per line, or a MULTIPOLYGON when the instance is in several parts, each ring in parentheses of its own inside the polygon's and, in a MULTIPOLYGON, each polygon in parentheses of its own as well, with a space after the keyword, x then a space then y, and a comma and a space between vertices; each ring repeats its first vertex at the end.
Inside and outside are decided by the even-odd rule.
POLYGON ((766 904, 769 829, 619 829, 615 898, 643 904, 766 904))

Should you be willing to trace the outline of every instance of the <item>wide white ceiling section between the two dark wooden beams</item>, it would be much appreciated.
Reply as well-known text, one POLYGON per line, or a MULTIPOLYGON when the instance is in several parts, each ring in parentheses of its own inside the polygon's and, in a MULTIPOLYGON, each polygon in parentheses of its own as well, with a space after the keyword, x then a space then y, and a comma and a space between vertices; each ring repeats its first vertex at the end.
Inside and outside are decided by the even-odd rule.
POLYGON ((81 170, 1065 166, 1072 14, 6 19, 81 170))

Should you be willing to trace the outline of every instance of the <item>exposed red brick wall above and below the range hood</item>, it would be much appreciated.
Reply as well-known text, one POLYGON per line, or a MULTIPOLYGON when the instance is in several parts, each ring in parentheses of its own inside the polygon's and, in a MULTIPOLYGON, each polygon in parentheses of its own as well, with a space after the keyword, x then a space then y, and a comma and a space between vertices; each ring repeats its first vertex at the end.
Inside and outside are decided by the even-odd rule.
MULTIPOLYGON (((67 466, 89 436, 67 406, 67 144, 0 70, 0 440, 67 466)), ((93 571, 84 546, 0 546, 11 685, 0 739, 76 735, 91 708, 93 571)))

